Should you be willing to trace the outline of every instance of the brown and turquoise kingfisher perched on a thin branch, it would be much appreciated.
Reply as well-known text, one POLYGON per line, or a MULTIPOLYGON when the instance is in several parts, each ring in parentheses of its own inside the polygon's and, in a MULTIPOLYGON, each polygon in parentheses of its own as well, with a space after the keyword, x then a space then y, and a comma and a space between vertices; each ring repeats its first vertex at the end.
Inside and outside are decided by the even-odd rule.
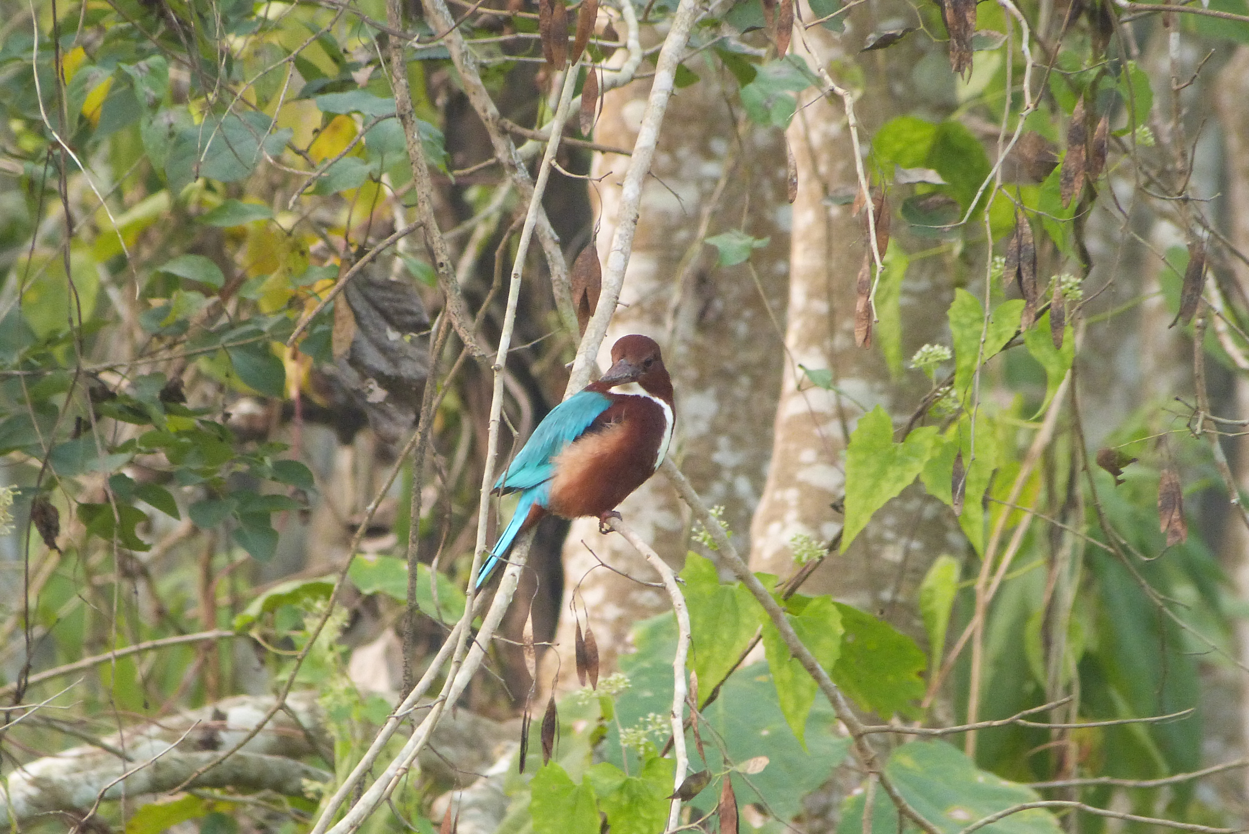
POLYGON ((547 513, 597 516, 606 532, 608 521, 621 517, 616 507, 663 463, 674 423, 659 346, 647 336, 622 336, 607 373, 552 408, 495 482, 495 492, 520 492, 521 499, 476 587, 547 513))

